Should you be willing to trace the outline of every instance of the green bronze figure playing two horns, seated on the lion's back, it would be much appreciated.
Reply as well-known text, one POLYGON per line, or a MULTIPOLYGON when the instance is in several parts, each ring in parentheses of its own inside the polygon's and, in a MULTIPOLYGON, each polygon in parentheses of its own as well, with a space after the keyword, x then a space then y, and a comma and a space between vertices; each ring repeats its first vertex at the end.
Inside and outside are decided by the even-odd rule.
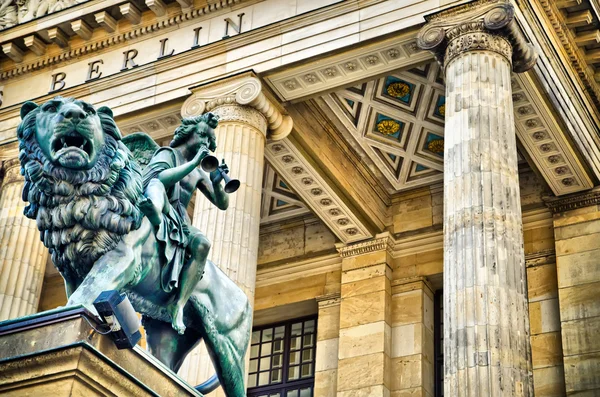
POLYGON ((229 205, 223 191, 223 174, 229 172, 225 161, 210 174, 200 162, 217 148, 214 128, 218 117, 205 113, 185 118, 169 146, 159 148, 144 170, 144 196, 140 210, 156 228, 156 238, 164 246, 167 266, 162 269, 162 288, 177 291, 170 305, 173 329, 185 331, 183 308, 194 286, 202 278, 210 242, 191 226, 187 206, 196 189, 221 210, 229 205))

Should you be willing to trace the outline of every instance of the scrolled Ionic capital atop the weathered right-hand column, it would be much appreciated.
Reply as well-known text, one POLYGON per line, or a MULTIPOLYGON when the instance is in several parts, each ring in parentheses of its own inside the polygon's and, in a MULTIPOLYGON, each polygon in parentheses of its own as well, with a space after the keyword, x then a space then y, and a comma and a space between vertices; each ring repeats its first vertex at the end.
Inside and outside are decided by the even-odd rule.
POLYGON ((506 57, 513 71, 533 67, 537 53, 526 42, 507 0, 479 0, 425 17, 417 45, 431 51, 442 67, 468 51, 492 51, 506 57))

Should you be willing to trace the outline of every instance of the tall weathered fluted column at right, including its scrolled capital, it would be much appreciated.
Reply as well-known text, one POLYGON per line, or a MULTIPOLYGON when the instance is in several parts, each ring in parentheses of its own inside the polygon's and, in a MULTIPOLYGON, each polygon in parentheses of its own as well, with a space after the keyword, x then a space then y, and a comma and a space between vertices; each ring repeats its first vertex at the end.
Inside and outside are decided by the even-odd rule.
POLYGON ((535 63, 514 9, 476 2, 418 36, 444 67, 444 395, 532 396, 511 70, 535 63))

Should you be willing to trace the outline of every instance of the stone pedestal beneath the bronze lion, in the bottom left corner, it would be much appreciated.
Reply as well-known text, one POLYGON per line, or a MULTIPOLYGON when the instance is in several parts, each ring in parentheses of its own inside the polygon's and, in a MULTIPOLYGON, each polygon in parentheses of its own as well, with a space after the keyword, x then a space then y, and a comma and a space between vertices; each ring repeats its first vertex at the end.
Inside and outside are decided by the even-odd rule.
POLYGON ((96 318, 67 307, 0 323, 0 395, 202 394, 144 349, 118 350, 96 318))

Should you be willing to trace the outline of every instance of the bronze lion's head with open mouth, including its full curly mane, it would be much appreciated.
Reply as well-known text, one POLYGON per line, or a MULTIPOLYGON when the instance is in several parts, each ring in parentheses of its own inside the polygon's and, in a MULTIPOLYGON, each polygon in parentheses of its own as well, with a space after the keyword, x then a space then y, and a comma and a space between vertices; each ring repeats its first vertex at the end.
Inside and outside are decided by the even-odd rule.
POLYGON ((17 128, 25 216, 66 277, 83 278, 140 226, 141 172, 108 108, 56 97, 26 102, 17 128))

